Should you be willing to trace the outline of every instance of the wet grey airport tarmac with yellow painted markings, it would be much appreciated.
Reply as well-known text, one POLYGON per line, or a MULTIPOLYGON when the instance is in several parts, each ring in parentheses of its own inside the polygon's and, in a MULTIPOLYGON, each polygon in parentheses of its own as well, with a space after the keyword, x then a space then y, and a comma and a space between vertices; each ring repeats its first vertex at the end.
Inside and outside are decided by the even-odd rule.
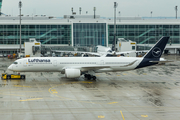
MULTIPOLYGON (((21 73, 26 80, 1 80, 0 119, 179 120, 180 56, 163 57, 174 62, 99 73, 96 81, 66 79, 51 72, 21 73)), ((0 58, 0 74, 13 61, 0 58)))

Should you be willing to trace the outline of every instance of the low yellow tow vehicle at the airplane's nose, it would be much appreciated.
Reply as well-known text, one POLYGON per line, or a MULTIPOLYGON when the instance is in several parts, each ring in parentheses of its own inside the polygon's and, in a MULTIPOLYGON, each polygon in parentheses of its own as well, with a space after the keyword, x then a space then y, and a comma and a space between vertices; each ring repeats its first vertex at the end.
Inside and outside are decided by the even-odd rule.
POLYGON ((25 75, 20 74, 6 74, 2 73, 1 79, 7 80, 7 79, 25 79, 25 75))

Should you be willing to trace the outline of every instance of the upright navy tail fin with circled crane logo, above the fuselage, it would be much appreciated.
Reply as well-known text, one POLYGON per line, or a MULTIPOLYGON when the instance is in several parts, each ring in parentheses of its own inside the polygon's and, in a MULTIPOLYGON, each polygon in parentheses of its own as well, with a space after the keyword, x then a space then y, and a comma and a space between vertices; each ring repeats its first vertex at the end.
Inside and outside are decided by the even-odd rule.
POLYGON ((160 40, 152 47, 144 58, 159 59, 164 51, 164 48, 169 40, 169 37, 161 37, 160 40))

